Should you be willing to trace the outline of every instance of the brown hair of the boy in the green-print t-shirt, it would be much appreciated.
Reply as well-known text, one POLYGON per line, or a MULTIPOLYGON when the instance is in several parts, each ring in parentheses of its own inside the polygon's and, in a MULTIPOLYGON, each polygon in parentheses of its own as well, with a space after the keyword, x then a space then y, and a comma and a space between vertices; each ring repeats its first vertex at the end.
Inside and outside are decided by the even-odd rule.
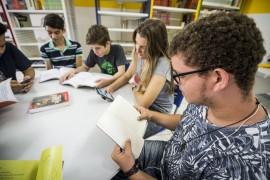
POLYGON ((99 44, 106 46, 107 41, 110 41, 108 29, 102 25, 92 25, 86 34, 86 44, 99 44))

